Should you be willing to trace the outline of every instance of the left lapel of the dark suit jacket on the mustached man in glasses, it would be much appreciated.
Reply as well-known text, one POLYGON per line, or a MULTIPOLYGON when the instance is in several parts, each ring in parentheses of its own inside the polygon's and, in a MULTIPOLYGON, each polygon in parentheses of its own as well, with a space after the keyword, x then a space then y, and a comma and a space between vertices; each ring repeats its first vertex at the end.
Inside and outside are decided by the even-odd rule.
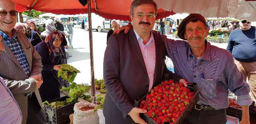
POLYGON ((128 35, 129 35, 128 37, 129 37, 130 43, 132 44, 132 48, 134 49, 136 56, 138 57, 138 59, 140 61, 140 64, 142 65, 143 69, 147 72, 146 65, 144 63, 144 59, 143 59, 143 56, 142 56, 142 53, 140 50, 140 46, 139 46, 139 43, 138 43, 138 40, 136 38, 133 28, 130 29, 130 31, 128 32, 128 35))

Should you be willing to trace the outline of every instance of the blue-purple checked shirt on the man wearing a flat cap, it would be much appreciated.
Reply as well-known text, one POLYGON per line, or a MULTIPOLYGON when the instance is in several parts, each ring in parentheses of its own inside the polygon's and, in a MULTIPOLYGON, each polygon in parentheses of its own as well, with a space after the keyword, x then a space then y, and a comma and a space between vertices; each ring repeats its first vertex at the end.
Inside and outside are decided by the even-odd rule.
POLYGON ((174 63, 175 73, 199 89, 199 104, 213 108, 228 108, 228 90, 237 97, 240 105, 252 104, 249 85, 234 64, 233 56, 225 49, 210 45, 204 55, 196 60, 186 41, 167 39, 162 35, 168 57, 174 63))

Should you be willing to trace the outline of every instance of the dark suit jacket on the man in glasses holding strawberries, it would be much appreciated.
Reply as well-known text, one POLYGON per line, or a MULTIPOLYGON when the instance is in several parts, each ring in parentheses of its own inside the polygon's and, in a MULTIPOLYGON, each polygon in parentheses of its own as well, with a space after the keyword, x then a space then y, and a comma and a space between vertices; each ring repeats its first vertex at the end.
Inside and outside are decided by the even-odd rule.
MULTIPOLYGON (((153 35, 156 46, 153 87, 164 79, 166 73, 170 79, 179 81, 181 78, 166 68, 166 49, 162 38, 154 32, 153 35)), ((108 39, 103 76, 107 89, 103 110, 106 124, 134 124, 128 113, 134 107, 134 99, 148 93, 149 78, 133 28, 128 34, 112 34, 108 39)))

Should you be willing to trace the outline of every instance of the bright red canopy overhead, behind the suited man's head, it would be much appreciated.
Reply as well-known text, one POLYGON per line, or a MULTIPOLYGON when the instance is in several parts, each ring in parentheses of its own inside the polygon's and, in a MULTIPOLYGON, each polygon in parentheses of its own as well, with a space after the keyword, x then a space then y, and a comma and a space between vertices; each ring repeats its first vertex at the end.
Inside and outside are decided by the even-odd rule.
MULTIPOLYGON (((14 0, 18 12, 38 10, 54 14, 87 14, 87 5, 82 6, 78 0, 14 0)), ((131 0, 91 0, 91 12, 104 18, 130 20, 131 0), (96 2, 95 2, 96 1, 96 2)), ((156 19, 175 14, 173 11, 158 9, 156 19)))

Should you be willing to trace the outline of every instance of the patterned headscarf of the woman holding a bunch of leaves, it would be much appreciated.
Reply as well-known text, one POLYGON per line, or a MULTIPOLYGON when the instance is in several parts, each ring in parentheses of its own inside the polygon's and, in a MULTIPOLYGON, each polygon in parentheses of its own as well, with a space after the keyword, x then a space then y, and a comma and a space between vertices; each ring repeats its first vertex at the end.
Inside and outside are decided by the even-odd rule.
MULTIPOLYGON (((52 63, 54 63, 54 58, 56 56, 64 56, 63 52, 62 52, 62 49, 61 47, 58 47, 59 48, 59 52, 57 52, 55 50, 55 47, 53 46, 53 42, 58 39, 59 37, 62 37, 61 33, 58 32, 58 31, 52 31, 45 39, 45 42, 46 42, 46 45, 48 46, 48 49, 49 49, 49 54, 50 54, 50 59, 52 61, 52 63)), ((62 41, 62 40, 61 40, 62 41)))

